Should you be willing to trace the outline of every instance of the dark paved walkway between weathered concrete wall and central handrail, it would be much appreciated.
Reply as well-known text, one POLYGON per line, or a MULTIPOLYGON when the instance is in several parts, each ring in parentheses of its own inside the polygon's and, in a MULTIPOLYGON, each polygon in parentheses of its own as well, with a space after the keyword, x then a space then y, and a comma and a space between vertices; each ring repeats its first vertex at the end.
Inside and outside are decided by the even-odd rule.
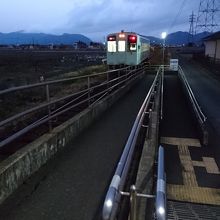
POLYGON ((99 219, 105 192, 154 76, 147 75, 0 207, 0 219, 99 219))

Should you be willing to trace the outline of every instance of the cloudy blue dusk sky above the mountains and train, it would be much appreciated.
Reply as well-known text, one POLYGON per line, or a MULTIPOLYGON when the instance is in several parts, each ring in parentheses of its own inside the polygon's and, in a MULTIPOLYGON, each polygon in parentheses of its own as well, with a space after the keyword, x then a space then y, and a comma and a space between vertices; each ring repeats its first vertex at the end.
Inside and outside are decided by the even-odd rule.
POLYGON ((125 30, 159 37, 188 31, 198 7, 199 0, 1 0, 0 32, 79 33, 101 41, 125 30))

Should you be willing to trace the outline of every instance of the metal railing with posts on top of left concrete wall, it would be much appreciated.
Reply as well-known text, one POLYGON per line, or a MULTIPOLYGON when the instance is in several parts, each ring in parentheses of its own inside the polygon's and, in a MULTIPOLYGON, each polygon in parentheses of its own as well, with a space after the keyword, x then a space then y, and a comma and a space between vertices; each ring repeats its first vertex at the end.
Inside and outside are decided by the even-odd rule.
MULTIPOLYGON (((144 65, 139 65, 135 69, 129 66, 97 74, 41 82, 33 85, 25 85, 0 91, 0 101, 2 103, 2 100, 8 99, 9 94, 16 96, 16 94, 20 94, 24 91, 29 92, 36 88, 40 89, 39 92, 43 92, 46 96, 46 100, 38 103, 36 106, 31 106, 27 110, 15 113, 14 115, 0 121, 0 127, 2 128, 1 131, 3 131, 7 126, 12 127, 8 136, 3 138, 0 137, 0 148, 11 143, 32 129, 41 126, 42 124, 48 123, 48 129, 51 131, 53 127, 52 120, 83 104, 87 107, 96 104, 96 102, 103 97, 115 91, 117 88, 120 88, 122 85, 132 81, 140 73, 143 73, 144 68, 144 65), (82 82, 82 90, 78 89, 73 93, 70 92, 70 94, 65 94, 63 97, 51 95, 51 93, 54 93, 55 90, 58 90, 58 93, 60 92, 60 84, 67 83, 68 85, 76 86, 79 82, 82 82), (54 107, 56 105, 57 107, 54 107), (40 117, 34 120, 27 120, 31 118, 33 114, 39 112, 42 112, 40 117), (27 120, 29 123, 25 123, 27 125, 14 131, 14 125, 18 122, 21 122, 23 119, 27 120)), ((62 89, 63 88, 65 87, 63 86, 62 89)), ((11 105, 14 104, 11 103, 11 105)))

